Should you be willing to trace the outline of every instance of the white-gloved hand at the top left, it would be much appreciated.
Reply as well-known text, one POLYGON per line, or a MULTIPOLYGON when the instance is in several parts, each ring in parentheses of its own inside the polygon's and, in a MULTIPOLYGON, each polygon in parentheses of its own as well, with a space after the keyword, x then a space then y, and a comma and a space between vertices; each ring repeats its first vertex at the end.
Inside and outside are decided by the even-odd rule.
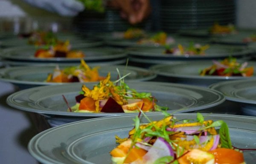
POLYGON ((84 5, 77 0, 23 0, 50 12, 56 12, 62 16, 75 16, 84 10, 84 5))

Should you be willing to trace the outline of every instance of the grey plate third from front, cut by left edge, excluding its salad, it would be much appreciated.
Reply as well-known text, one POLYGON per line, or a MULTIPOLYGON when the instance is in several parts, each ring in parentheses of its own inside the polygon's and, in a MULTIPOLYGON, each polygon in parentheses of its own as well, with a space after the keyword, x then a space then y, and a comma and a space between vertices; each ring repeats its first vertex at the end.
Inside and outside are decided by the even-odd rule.
MULTIPOLYGON (((99 66, 99 64, 89 65, 91 68, 99 66)), ((64 83, 50 83, 45 82, 49 73, 52 73, 56 66, 20 66, 0 69, 0 80, 13 83, 21 88, 28 88, 42 85, 56 85, 64 83)), ((67 68, 67 66, 60 66, 60 69, 67 68)), ((99 66, 99 75, 106 76, 111 72, 112 80, 116 80, 118 73, 131 73, 126 81, 147 81, 154 79, 156 74, 150 72, 148 69, 142 69, 133 66, 99 66)))

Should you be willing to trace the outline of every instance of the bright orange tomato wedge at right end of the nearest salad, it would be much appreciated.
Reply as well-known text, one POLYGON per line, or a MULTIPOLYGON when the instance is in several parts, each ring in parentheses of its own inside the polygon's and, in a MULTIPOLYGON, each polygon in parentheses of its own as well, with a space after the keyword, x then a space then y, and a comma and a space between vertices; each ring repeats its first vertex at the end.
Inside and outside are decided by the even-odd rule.
POLYGON ((217 148, 209 151, 215 157, 215 164, 241 164, 244 162, 243 153, 227 148, 217 148))

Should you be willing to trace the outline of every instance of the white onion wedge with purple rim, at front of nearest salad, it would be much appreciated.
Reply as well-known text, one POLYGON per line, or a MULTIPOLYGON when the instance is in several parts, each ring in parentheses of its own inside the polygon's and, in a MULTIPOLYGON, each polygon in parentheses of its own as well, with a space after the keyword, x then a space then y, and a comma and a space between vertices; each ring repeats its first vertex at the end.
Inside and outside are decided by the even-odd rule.
POLYGON ((158 158, 164 156, 174 156, 174 151, 167 141, 159 137, 142 159, 137 159, 131 164, 153 164, 158 158))

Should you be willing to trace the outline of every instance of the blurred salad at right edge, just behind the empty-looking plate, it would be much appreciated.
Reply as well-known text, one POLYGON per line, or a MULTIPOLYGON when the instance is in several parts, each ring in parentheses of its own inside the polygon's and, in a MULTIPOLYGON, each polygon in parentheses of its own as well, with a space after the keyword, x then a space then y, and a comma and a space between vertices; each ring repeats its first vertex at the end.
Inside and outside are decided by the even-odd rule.
POLYGON ((212 66, 200 71, 200 75, 218 75, 218 76, 243 76, 253 75, 253 67, 247 67, 248 63, 238 63, 236 58, 225 58, 222 61, 213 60, 212 66))

